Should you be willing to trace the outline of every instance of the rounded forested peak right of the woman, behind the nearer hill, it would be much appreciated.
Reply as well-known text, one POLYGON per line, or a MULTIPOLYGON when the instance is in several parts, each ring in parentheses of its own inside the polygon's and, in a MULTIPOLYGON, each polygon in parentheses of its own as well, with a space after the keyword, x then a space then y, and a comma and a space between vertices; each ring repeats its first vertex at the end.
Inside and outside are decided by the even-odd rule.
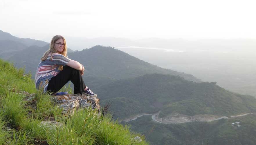
POLYGON ((94 76, 125 79, 160 73, 179 75, 187 80, 200 82, 193 75, 152 65, 112 47, 94 46, 70 53, 69 58, 82 62, 86 66, 86 73, 94 76))

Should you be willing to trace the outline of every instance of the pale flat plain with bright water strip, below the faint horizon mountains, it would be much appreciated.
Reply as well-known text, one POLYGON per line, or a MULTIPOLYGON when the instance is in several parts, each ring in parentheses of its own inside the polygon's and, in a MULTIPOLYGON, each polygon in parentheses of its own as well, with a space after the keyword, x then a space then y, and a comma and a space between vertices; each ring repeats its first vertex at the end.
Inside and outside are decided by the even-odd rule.
POLYGON ((230 91, 256 96, 256 60, 254 40, 211 40, 211 43, 200 47, 208 40, 197 41, 190 48, 168 51, 164 48, 117 47, 144 61, 162 68, 189 73, 202 81, 216 81, 230 91), (222 41, 222 43, 218 43, 222 41))

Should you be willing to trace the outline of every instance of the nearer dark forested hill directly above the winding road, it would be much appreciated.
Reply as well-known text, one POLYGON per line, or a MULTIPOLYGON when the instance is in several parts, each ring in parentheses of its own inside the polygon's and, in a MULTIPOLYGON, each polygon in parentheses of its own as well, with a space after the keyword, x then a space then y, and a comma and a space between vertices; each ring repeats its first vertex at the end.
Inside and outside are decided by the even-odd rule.
POLYGON ((215 82, 196 83, 179 76, 147 74, 96 88, 101 101, 121 119, 140 113, 229 116, 256 111, 256 99, 232 93, 215 82))

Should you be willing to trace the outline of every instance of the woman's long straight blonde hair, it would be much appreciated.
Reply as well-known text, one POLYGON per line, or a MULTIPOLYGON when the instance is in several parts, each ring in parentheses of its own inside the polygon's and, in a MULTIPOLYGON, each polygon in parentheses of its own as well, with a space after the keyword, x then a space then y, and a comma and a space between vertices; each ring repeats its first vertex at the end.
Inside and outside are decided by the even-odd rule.
POLYGON ((66 40, 65 40, 65 38, 63 36, 55 35, 53 37, 53 39, 51 40, 51 43, 50 43, 50 48, 44 53, 44 55, 42 56, 41 60, 45 61, 50 53, 51 53, 51 59, 53 57, 53 53, 60 53, 61 55, 64 55, 65 57, 68 57, 66 40), (63 49, 62 52, 58 52, 57 49, 54 46, 55 42, 58 41, 59 39, 63 39, 64 44, 65 44, 64 49, 63 49))

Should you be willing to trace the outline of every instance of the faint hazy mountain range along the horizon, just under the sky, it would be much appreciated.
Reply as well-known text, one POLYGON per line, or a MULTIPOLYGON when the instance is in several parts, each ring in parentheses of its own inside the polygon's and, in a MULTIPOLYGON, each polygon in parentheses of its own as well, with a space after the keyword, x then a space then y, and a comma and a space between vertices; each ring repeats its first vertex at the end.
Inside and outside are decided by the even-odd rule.
MULTIPOLYGON (((161 38, 144 38, 144 39, 127 39, 116 37, 65 37, 68 41, 68 47, 73 50, 83 50, 95 45, 112 46, 122 48, 124 46, 165 48, 183 51, 226 51, 234 52, 254 52, 256 47, 255 39, 161 39, 161 38), (241 49, 242 48, 242 49, 241 49)), ((44 39, 50 41, 51 38, 44 39)))

